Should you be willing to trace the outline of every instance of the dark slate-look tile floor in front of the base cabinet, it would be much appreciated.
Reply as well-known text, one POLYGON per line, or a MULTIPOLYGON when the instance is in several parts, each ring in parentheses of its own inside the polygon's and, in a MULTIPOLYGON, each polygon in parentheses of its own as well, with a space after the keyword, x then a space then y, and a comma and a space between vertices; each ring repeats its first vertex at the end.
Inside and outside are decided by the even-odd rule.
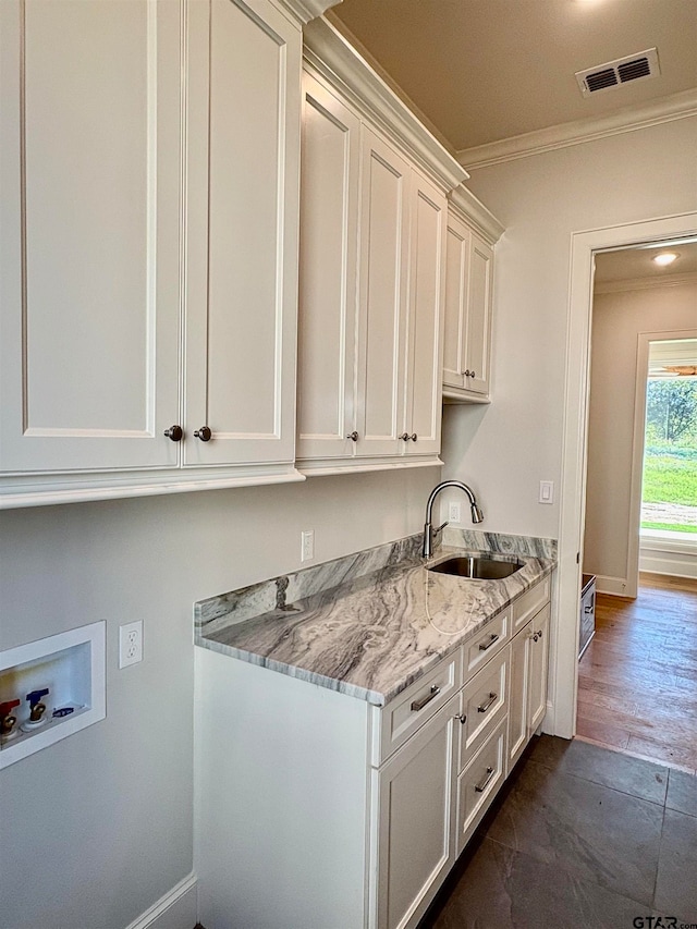
POLYGON ((419 929, 697 929, 694 774, 542 735, 494 804, 419 929))

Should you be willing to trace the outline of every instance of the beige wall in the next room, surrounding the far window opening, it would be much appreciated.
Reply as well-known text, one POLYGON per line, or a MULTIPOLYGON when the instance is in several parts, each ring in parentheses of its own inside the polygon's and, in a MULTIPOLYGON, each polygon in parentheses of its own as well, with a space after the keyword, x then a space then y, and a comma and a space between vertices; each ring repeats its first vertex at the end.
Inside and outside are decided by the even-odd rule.
MULTIPOLYGON (((638 531, 629 496, 638 335, 696 323, 695 282, 595 296, 584 571, 600 578, 627 583, 629 535, 638 531)), ((602 583, 598 589, 606 589, 602 583)))

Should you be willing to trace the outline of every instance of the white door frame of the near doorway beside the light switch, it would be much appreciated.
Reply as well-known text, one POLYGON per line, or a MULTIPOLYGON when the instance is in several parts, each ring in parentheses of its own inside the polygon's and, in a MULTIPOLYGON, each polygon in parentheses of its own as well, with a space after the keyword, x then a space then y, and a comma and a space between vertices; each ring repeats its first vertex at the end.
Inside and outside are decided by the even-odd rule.
POLYGON ((566 379, 559 522, 555 629, 545 729, 572 738, 578 689, 578 602, 586 510, 594 253, 697 235, 697 212, 574 232, 566 315, 566 379), (577 561, 578 554, 578 561, 577 561))

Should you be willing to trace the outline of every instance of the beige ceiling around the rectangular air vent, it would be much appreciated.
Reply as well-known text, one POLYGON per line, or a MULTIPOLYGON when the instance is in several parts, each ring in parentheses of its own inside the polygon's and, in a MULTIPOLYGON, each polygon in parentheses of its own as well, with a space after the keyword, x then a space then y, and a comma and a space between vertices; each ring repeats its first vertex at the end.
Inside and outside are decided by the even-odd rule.
POLYGON ((461 156, 697 88, 697 0, 343 0, 330 17, 461 156), (653 47, 660 76, 582 96, 576 71, 653 47))

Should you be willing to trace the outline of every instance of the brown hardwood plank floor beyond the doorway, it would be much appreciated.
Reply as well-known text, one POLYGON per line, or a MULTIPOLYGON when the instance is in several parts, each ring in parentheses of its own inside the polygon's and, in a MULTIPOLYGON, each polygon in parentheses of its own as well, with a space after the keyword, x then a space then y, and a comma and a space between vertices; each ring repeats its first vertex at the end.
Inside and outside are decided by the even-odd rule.
POLYGON ((578 675, 579 738, 697 771, 697 580, 641 573, 636 600, 599 594, 578 675))

